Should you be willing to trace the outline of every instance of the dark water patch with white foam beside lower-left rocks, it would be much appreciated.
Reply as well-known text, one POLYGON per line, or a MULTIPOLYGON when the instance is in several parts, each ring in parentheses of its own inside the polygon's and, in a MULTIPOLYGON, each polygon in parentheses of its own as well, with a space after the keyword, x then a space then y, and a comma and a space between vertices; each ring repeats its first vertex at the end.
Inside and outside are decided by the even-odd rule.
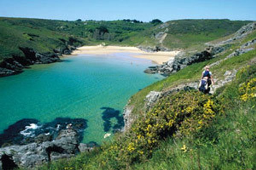
POLYGON ((51 141, 58 136, 60 130, 66 129, 68 124, 79 135, 79 142, 83 139, 87 119, 71 119, 58 117, 52 122, 42 123, 37 119, 21 119, 10 125, 0 134, 0 147, 12 144, 28 144, 31 142, 51 141))

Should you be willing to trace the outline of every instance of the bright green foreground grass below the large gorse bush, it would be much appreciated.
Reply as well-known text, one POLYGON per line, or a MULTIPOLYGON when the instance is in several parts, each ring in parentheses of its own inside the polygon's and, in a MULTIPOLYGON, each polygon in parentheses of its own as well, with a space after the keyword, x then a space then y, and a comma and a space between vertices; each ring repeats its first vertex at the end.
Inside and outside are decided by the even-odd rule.
MULTIPOLYGON (((256 98, 242 102, 238 93, 242 82, 255 77, 256 64, 239 71, 237 79, 219 89, 214 96, 223 99, 222 105, 226 109, 224 113, 218 114, 209 126, 183 138, 167 137, 154 148, 151 157, 141 162, 126 164, 125 169, 255 169, 256 98)), ((114 140, 120 139, 117 137, 114 140)), ((111 146, 110 142, 102 147, 103 151, 97 148, 92 153, 81 153, 68 161, 55 161, 38 169, 119 169, 119 165, 115 163, 118 157, 109 162, 109 157, 104 153, 104 148, 111 146)))

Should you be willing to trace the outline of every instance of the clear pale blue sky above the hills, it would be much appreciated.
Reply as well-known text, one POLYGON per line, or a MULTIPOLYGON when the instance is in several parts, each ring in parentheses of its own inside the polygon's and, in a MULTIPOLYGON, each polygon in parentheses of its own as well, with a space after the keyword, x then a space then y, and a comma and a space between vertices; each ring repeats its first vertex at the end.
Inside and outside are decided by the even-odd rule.
POLYGON ((256 20, 256 0, 0 0, 1 17, 256 20))

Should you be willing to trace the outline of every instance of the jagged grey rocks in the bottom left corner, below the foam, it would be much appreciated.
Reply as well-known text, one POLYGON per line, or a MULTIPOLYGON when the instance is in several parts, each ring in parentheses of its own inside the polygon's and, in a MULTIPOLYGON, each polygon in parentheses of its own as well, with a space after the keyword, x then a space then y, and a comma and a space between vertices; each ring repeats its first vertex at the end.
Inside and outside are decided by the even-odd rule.
POLYGON ((31 168, 51 160, 70 158, 79 152, 78 146, 78 135, 75 130, 61 130, 53 141, 0 148, 1 168, 31 168))

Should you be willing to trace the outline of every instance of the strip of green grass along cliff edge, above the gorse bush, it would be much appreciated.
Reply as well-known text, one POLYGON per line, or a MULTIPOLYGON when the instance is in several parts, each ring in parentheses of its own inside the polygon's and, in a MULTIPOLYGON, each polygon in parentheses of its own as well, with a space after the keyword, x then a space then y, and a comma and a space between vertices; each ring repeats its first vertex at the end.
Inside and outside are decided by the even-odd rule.
MULTIPOLYGON (((205 65, 209 65, 213 62, 216 62, 220 59, 225 58, 227 55, 231 54, 238 47, 239 45, 233 45, 230 47, 231 49, 233 49, 232 51, 227 51, 221 56, 205 62, 199 62, 193 65, 189 65, 186 68, 178 71, 177 73, 170 75, 166 79, 163 79, 159 82, 155 82, 149 85, 148 87, 142 89, 137 94, 134 94, 134 96, 131 97, 131 102, 130 102, 130 105, 134 105, 133 113, 135 115, 140 113, 143 114, 144 99, 145 99, 145 96, 150 91, 162 91, 168 88, 175 87, 176 85, 179 85, 181 83, 198 81, 198 79, 200 79, 201 77, 201 73, 205 65)), ((242 54, 238 57, 232 57, 230 59, 224 60, 219 65, 212 67, 211 71, 214 77, 222 78, 225 71, 239 69, 244 65, 247 65, 248 61, 250 61, 250 59, 253 59, 255 57, 256 57, 256 50, 249 51, 248 53, 242 54)))

